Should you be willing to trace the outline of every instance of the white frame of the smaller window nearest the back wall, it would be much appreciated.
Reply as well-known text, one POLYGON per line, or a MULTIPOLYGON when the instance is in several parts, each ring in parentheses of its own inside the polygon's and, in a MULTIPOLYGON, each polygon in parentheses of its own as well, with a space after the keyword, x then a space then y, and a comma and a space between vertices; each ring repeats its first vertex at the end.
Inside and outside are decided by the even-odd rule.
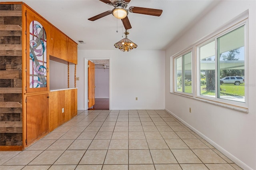
POLYGON ((173 68, 174 68, 174 81, 173 81, 173 92, 174 93, 179 93, 179 94, 182 94, 182 95, 188 95, 188 96, 193 96, 194 94, 194 85, 193 85, 193 48, 190 48, 190 49, 187 49, 186 51, 182 51, 181 53, 178 53, 177 55, 175 55, 173 57, 173 68), (188 54, 188 53, 191 53, 191 81, 192 81, 192 84, 191 84, 191 88, 192 88, 192 93, 187 93, 187 92, 184 92, 185 91, 185 86, 184 86, 184 55, 188 54), (176 59, 180 58, 182 59, 182 91, 177 91, 177 67, 176 67, 176 59))

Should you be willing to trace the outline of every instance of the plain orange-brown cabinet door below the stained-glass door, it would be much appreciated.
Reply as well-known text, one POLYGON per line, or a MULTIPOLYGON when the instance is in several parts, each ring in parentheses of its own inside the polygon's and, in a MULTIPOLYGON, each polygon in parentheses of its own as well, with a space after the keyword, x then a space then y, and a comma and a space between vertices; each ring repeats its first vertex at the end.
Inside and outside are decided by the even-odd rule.
POLYGON ((49 133, 49 98, 47 94, 27 97, 27 146, 49 133))

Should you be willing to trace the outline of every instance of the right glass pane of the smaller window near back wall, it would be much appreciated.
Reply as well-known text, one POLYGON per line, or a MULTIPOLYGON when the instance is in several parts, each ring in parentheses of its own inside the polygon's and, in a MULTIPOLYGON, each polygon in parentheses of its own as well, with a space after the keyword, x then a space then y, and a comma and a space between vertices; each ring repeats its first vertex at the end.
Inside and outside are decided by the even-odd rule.
POLYGON ((183 55, 183 65, 184 65, 184 92, 192 93, 192 53, 189 52, 183 55))

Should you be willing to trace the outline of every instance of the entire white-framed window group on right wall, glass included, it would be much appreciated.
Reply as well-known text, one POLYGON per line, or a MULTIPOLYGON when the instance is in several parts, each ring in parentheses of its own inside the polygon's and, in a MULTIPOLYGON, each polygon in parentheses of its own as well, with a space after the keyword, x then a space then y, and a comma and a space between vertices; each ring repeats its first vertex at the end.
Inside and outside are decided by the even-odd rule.
POLYGON ((174 88, 171 91, 232 109, 248 108, 248 14, 241 14, 240 21, 237 20, 223 27, 222 32, 211 34, 192 44, 191 49, 172 56, 174 88))

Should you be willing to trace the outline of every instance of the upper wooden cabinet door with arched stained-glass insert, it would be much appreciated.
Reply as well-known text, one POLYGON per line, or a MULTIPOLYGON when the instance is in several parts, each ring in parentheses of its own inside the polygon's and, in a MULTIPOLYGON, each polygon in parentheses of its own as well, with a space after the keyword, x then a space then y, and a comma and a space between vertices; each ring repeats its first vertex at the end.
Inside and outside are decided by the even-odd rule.
POLYGON ((49 24, 26 10, 26 89, 27 93, 49 90, 49 24))

